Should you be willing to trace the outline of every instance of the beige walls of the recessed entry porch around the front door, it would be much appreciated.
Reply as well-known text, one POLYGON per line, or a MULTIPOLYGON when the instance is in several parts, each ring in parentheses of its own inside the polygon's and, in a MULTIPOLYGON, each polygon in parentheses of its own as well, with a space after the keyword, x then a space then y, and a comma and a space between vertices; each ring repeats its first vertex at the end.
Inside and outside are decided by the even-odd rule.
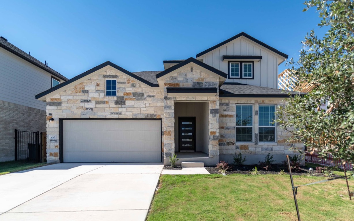
POLYGON ((175 151, 178 151, 178 117, 195 117, 196 151, 208 153, 208 103, 175 103, 175 151), (206 108, 205 108, 206 107, 206 108))

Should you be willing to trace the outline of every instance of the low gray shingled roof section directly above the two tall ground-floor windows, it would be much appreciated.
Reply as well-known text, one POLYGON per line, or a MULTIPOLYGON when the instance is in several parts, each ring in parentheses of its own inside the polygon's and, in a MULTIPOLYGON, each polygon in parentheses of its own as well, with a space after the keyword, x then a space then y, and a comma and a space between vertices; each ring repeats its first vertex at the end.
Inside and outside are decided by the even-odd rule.
POLYGON ((249 98, 287 98, 289 95, 305 95, 295 91, 246 85, 241 83, 224 83, 219 90, 219 97, 249 97, 249 98))

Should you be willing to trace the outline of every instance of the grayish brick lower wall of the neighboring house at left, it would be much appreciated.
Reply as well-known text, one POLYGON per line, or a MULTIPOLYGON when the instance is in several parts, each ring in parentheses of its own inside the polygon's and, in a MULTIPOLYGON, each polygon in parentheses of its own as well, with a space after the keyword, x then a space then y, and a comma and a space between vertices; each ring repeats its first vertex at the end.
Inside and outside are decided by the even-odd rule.
POLYGON ((15 160, 15 129, 46 131, 46 112, 0 100, 0 162, 15 160))

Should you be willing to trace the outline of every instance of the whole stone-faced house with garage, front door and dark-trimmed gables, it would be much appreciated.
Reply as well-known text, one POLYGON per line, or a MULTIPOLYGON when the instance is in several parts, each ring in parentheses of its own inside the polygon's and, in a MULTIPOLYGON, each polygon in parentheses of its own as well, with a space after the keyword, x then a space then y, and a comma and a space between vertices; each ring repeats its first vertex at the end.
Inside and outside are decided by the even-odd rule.
MULTIPOLYGON (((247 164, 293 155, 273 124, 289 95, 277 89, 288 56, 240 33, 164 71, 105 62, 38 95, 47 102, 47 161, 247 164), (49 139, 54 137, 55 139, 49 139)), ((303 144, 296 144, 303 148, 303 144)))

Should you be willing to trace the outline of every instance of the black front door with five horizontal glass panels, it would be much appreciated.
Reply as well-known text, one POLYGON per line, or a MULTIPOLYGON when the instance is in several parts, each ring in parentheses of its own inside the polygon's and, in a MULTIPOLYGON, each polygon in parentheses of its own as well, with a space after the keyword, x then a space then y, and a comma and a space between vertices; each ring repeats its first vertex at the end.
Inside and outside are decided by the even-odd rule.
POLYGON ((195 117, 178 117, 178 149, 195 151, 195 117))

